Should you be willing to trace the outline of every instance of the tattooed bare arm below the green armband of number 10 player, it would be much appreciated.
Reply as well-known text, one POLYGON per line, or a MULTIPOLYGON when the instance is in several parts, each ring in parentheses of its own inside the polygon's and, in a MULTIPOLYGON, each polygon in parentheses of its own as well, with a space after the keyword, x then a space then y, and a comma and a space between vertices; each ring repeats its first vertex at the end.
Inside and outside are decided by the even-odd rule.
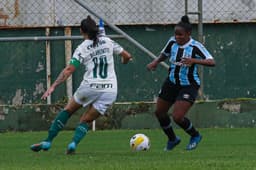
POLYGON ((76 70, 76 67, 72 64, 66 66, 62 72, 59 74, 59 76, 57 77, 57 79, 54 81, 54 83, 51 85, 51 87, 49 87, 46 92, 43 94, 43 96, 41 97, 41 99, 46 99, 54 90, 55 88, 60 85, 61 83, 63 83, 64 81, 66 81, 69 76, 76 70))

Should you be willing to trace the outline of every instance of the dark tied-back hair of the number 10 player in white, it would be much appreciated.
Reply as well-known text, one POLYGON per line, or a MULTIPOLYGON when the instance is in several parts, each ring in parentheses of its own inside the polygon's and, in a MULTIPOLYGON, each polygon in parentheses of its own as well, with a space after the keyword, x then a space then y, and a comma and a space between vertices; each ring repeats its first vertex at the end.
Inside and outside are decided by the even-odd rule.
POLYGON ((80 25, 81 30, 83 33, 86 33, 90 40, 93 40, 93 46, 95 47, 98 43, 98 33, 99 29, 96 25, 96 22, 91 18, 90 15, 87 16, 86 19, 83 19, 81 21, 80 25))

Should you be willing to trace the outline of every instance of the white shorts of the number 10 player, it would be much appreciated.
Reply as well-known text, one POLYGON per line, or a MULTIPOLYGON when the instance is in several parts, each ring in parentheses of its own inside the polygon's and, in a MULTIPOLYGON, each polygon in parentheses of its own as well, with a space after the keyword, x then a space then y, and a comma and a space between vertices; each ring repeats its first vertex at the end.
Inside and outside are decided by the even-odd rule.
POLYGON ((92 104, 102 115, 116 101, 116 97, 117 92, 95 90, 86 85, 80 86, 74 94, 74 99, 78 104, 83 105, 83 107, 92 104))

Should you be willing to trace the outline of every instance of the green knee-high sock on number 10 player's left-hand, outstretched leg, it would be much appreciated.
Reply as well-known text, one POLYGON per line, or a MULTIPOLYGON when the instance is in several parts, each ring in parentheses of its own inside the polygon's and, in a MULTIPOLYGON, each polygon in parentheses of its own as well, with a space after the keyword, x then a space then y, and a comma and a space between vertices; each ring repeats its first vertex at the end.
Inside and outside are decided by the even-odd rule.
POLYGON ((60 111, 51 124, 51 127, 48 130, 48 137, 45 141, 52 142, 52 140, 58 135, 59 131, 63 129, 69 117, 70 114, 66 110, 60 111))

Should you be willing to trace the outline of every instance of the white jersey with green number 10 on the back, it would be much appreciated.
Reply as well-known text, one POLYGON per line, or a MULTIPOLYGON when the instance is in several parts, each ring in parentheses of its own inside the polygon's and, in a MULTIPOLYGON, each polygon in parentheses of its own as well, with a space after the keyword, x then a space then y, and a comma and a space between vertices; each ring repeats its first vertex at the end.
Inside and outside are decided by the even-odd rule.
POLYGON ((92 40, 85 40, 75 50, 70 64, 85 66, 81 85, 95 90, 117 91, 113 54, 122 51, 123 48, 108 37, 99 37, 95 47, 92 40))

